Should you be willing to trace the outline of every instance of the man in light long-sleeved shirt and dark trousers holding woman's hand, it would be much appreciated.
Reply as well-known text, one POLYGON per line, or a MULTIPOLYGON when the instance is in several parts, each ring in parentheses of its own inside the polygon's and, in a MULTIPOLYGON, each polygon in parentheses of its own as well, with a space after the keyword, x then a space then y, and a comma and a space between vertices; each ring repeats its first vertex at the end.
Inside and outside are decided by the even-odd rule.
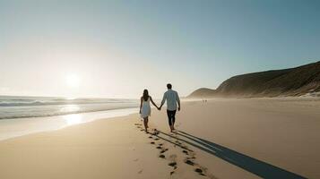
POLYGON ((177 110, 180 111, 180 98, 177 95, 177 91, 172 90, 172 85, 170 83, 167 84, 167 88, 168 90, 163 94, 161 105, 158 109, 161 110, 161 107, 167 100, 167 115, 169 126, 171 132, 173 132, 173 130, 175 130, 176 112, 177 110))

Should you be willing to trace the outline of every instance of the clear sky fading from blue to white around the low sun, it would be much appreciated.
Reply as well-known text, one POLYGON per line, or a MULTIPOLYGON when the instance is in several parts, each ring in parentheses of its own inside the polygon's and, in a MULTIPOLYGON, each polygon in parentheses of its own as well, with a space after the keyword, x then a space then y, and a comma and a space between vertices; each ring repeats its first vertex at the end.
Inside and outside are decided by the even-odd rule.
POLYGON ((0 0, 0 93, 159 98, 320 59, 320 1, 0 0))

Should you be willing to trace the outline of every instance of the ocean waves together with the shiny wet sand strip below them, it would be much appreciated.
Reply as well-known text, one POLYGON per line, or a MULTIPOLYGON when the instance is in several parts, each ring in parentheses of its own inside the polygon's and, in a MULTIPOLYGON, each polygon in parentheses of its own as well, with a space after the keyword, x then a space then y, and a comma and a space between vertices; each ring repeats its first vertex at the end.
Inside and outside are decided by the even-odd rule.
MULTIPOLYGON (((95 120, 137 114, 140 101, 114 98, 0 96, 0 141, 95 120)), ((139 115, 134 116, 140 120, 139 115)))

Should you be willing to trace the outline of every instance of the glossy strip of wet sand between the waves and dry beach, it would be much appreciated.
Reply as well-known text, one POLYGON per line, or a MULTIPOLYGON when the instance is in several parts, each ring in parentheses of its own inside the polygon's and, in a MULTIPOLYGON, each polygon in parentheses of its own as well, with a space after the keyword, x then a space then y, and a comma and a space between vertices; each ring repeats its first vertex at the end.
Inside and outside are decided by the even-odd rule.
POLYGON ((137 113, 137 110, 136 107, 130 107, 69 115, 1 119, 0 141, 32 133, 56 131, 72 125, 90 123, 101 119, 112 119, 117 116, 131 115, 137 113), (24 126, 30 124, 31 128, 25 130, 24 126))

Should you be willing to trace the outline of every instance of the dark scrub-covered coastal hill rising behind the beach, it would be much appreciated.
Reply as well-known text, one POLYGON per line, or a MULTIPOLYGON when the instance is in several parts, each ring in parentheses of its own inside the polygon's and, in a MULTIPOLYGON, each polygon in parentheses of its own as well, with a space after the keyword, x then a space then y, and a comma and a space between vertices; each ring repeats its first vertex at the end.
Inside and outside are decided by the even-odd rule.
POLYGON ((320 61, 296 68, 233 76, 223 81, 216 90, 195 90, 189 97, 301 96, 318 91, 320 91, 320 61))

